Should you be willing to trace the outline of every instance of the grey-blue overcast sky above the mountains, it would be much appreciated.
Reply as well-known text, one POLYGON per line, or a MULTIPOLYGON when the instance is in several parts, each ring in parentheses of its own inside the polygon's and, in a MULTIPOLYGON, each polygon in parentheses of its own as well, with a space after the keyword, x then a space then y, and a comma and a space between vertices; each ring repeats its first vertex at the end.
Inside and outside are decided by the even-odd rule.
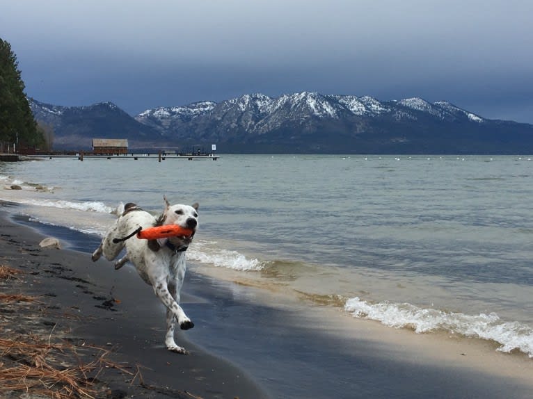
POLYGON ((447 100, 533 123, 532 0, 3 0, 26 95, 158 106, 261 92, 447 100))

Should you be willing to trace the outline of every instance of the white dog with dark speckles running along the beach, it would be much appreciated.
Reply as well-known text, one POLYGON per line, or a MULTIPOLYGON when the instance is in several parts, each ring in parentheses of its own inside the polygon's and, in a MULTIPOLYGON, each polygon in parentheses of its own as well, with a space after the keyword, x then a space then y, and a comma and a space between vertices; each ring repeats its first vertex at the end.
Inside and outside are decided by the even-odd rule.
POLYGON ((180 290, 185 277, 185 251, 198 227, 198 204, 170 205, 166 197, 164 201, 165 210, 159 218, 143 211, 136 204, 126 204, 124 212, 93 252, 92 259, 97 261, 104 254, 108 261, 112 261, 126 247, 125 257, 115 262, 115 268, 121 268, 127 261, 134 264, 138 274, 152 286, 155 295, 166 306, 166 348, 173 352, 186 353, 186 350, 174 341, 174 324, 177 320, 181 329, 194 327, 191 319, 180 307, 180 290), (141 228, 161 225, 179 225, 191 229, 193 234, 189 237, 150 241, 135 236, 141 228))

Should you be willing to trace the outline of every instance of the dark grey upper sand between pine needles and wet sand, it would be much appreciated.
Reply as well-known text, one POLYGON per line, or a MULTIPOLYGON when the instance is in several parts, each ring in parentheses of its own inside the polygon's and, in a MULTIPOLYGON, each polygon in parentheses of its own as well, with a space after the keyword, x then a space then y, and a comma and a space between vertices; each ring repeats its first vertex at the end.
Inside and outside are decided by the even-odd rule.
MULTIPOLYGON (((112 391, 117 398, 269 398, 245 371, 193 345, 180 332, 177 341, 184 343, 191 354, 177 355, 166 350, 161 316, 164 311, 154 314, 137 303, 150 297, 147 301, 157 304, 150 287, 138 277, 122 275, 120 278, 127 279, 134 289, 117 284, 110 291, 106 283, 113 282, 113 277, 109 277, 114 271, 111 263, 93 263, 82 252, 40 248, 45 236, 12 222, 3 210, 0 225, 0 262, 22 271, 19 279, 3 282, 2 292, 31 295, 44 309, 33 314, 30 321, 25 318, 37 313, 35 309, 6 314, 0 318, 0 333, 13 339, 22 332, 40 331, 44 341, 51 337, 62 341, 65 336, 69 342, 83 343, 81 347, 110 350, 108 357, 113 363, 121 364, 132 374, 104 366, 98 380, 106 391, 97 397, 109 398, 112 391), (131 277, 136 277, 138 284, 131 277), (6 323, 19 325, 17 332, 10 331, 6 323)), ((184 295, 184 302, 195 300, 184 295)), ((0 370, 4 363, 7 367, 7 361, 0 357, 0 370)))

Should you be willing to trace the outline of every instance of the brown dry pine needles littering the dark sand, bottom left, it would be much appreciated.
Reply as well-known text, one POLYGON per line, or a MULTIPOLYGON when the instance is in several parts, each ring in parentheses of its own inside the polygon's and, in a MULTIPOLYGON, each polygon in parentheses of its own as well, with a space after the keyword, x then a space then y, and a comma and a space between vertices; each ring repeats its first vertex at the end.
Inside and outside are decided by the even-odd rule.
MULTIPOLYGON (((21 273, 15 268, 0 266, 0 280, 9 280, 21 273)), ((25 308, 23 311, 22 302, 28 302, 32 307, 39 303, 38 298, 30 295, 0 293, 0 303, 9 303, 9 315, 19 315, 17 321, 24 323, 26 318, 21 312, 32 310, 25 308)), ((12 316, 9 319, 13 320, 12 316)), ((97 377, 104 368, 116 368, 133 375, 120 364, 107 359, 109 350, 84 343, 74 345, 53 337, 54 330, 50 334, 40 332, 13 337, 13 329, 4 329, 5 325, 0 323, 2 398, 18 398, 21 393, 53 399, 95 398, 102 396, 104 384, 99 384, 97 377), (84 362, 83 359, 92 360, 84 362)), ((34 329, 34 325, 31 327, 34 329)))

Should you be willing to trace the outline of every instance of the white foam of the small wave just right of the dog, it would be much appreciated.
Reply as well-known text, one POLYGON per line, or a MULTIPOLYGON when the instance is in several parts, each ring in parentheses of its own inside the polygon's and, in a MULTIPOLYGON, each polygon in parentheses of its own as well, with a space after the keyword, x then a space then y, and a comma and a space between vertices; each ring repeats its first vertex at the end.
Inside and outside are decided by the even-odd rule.
POLYGON ((187 252, 187 257, 193 261, 239 271, 261 270, 264 267, 264 263, 257 259, 248 259, 237 251, 212 247, 212 244, 201 241, 195 243, 187 252))

